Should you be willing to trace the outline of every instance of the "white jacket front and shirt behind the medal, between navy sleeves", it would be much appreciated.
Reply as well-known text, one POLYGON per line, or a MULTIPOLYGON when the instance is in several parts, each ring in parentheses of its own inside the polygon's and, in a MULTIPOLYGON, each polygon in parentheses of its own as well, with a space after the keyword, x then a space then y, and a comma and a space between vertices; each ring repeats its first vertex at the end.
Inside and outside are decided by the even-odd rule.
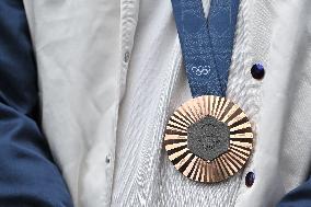
POLYGON ((169 0, 24 4, 43 127, 77 207, 269 207, 308 177, 311 1, 242 0, 227 94, 256 143, 244 172, 215 185, 183 177, 162 148, 168 117, 191 97, 169 0))

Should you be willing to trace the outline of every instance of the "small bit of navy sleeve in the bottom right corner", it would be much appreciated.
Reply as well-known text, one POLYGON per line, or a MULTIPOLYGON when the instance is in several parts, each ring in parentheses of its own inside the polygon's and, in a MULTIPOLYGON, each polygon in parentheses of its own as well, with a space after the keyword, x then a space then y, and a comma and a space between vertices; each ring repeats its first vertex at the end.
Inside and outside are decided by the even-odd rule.
POLYGON ((311 206, 311 177, 289 192, 278 204, 278 207, 308 207, 311 206))

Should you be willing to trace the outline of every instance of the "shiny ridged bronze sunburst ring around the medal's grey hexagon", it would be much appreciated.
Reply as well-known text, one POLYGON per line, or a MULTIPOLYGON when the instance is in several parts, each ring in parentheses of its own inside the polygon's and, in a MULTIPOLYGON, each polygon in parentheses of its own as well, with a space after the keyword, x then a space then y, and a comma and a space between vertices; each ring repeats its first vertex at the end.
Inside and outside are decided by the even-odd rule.
POLYGON ((233 102, 204 95, 187 101, 174 112, 166 125, 164 147, 173 165, 185 176, 198 182, 220 182, 246 163, 253 148, 252 126, 233 102), (204 160, 187 147, 188 126, 206 116, 226 123, 230 129, 228 151, 214 160, 204 160))

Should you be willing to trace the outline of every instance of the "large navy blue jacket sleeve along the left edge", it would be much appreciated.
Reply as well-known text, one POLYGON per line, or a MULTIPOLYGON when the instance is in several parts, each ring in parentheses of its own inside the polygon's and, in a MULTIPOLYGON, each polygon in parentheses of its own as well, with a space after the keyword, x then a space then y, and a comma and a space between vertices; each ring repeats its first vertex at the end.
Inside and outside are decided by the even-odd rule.
POLYGON ((0 207, 71 207, 38 126, 36 65, 22 0, 0 1, 0 207))

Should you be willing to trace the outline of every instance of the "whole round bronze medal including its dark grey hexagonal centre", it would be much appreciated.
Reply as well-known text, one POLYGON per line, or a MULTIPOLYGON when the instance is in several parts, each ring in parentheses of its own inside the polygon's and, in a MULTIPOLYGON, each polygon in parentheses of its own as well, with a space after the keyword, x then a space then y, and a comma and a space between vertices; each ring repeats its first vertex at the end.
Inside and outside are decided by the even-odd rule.
POLYGON ((234 175, 253 148, 252 126, 233 102, 203 95, 182 104, 170 117, 164 147, 173 165, 197 182, 234 175))

